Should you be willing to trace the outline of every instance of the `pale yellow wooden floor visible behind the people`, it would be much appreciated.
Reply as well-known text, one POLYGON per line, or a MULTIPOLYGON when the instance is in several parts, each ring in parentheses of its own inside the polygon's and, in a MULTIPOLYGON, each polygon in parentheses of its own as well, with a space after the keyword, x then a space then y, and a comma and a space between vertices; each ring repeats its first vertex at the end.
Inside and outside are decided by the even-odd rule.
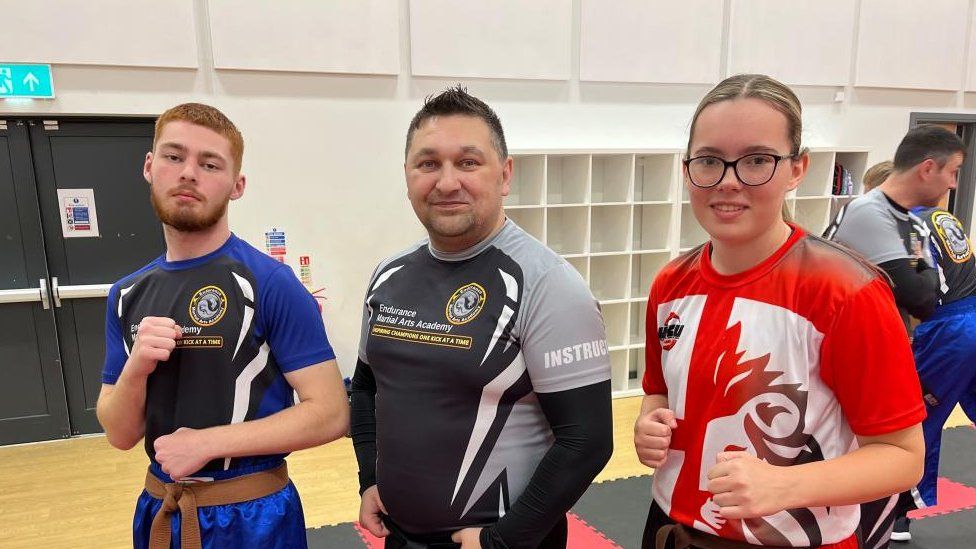
MULTIPOLYGON (((614 452, 596 482, 649 474, 634 453, 640 398, 614 401, 614 452)), ((947 427, 968 423, 957 408, 947 427)), ((92 436, 0 448, 0 547, 131 546, 132 512, 148 460, 92 436)), ((350 439, 296 452, 288 467, 308 527, 357 519, 356 459, 350 439)), ((648 495, 649 497, 649 495, 648 495)))

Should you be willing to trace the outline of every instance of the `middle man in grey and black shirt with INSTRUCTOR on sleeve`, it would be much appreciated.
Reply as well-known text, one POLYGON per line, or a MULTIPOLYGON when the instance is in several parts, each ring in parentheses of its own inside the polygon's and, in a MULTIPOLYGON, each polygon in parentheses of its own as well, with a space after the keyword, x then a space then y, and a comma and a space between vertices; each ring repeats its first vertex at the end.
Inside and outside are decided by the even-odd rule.
POLYGON ((512 159, 463 89, 407 134, 429 239, 366 292, 352 385, 360 522, 386 547, 565 547, 612 451, 603 319, 565 260, 505 218, 512 159))

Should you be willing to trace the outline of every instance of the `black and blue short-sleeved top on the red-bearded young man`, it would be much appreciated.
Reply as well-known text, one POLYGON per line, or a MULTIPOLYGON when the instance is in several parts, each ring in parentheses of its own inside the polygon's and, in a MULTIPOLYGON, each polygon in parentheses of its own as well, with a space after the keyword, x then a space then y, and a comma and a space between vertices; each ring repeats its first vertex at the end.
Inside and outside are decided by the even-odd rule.
MULTIPOLYGON (((186 261, 161 256, 112 286, 102 382, 114 385, 146 316, 172 318, 183 336, 146 382, 146 453, 180 427, 259 419, 294 404, 291 372, 335 358, 314 298, 295 274, 234 235, 186 261)), ((284 456, 216 459, 213 479, 273 466, 284 456)))

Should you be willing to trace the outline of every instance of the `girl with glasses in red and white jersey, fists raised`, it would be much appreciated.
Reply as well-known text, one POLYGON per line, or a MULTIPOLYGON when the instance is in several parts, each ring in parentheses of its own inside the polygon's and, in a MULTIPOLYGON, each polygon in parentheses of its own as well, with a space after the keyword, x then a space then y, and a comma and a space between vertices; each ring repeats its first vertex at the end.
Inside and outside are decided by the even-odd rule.
POLYGON ((651 287, 643 547, 854 549, 857 504, 921 476, 925 410, 886 279, 784 219, 800 135, 799 100, 762 75, 721 82, 692 119, 684 176, 709 241, 651 287))

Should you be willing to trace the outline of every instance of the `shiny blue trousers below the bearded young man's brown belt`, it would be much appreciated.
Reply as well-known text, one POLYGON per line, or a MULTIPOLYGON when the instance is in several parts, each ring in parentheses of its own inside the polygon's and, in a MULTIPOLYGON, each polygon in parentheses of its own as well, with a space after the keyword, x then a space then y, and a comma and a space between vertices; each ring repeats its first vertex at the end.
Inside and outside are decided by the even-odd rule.
MULTIPOLYGON (((246 474, 254 471, 246 471, 246 474)), ((168 481, 168 479, 160 479, 168 481)), ((163 500, 145 490, 136 503, 132 521, 132 545, 136 549, 149 547, 149 530, 156 511, 163 500)), ((275 549, 305 549, 305 516, 298 490, 291 482, 281 490, 263 498, 230 505, 197 508, 203 549, 226 547, 254 547, 275 549)), ((172 541, 170 547, 180 547, 180 512, 170 518, 172 541)))

